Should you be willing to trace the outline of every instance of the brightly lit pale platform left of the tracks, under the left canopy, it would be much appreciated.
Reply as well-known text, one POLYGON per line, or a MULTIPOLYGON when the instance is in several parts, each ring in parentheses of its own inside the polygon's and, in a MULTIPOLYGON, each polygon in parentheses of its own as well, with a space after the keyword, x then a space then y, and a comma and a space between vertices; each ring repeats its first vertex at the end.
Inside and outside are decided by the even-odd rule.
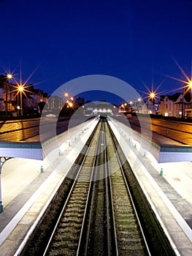
POLYGON ((4 211, 0 214, 0 256, 20 254, 25 238, 34 230, 96 123, 90 120, 86 127, 71 129, 67 136, 71 143, 66 140, 58 157, 5 162, 1 173, 4 211))

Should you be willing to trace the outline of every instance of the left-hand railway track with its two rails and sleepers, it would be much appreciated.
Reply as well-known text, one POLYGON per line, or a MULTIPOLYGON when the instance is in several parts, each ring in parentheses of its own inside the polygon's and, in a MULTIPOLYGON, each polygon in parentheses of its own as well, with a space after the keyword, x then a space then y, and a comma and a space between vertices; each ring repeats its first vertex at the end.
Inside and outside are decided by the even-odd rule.
MULTIPOLYGON (((101 124, 99 124, 99 127, 101 124)), ((91 191, 93 164, 99 131, 91 140, 88 152, 80 165, 76 181, 58 219, 44 255, 76 255, 88 194, 91 191)))

